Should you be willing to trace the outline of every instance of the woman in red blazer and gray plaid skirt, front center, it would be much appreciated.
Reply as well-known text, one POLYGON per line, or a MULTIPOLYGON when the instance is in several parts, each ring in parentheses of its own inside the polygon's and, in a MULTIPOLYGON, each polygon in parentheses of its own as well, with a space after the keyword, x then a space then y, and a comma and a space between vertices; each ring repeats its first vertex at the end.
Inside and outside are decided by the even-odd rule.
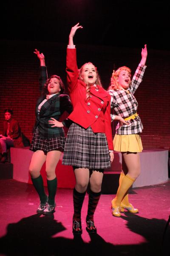
MULTIPOLYGON (((105 168, 113 161, 111 131, 111 97, 102 88, 98 72, 92 63, 77 68, 73 37, 79 23, 72 27, 67 48, 67 82, 73 112, 68 116, 73 122, 68 130, 62 164, 72 165, 76 177, 73 192, 73 233, 82 234, 81 209, 89 186, 86 230, 96 233, 94 212, 101 195, 105 168)), ((59 125, 54 120, 53 125, 59 125)), ((62 124, 60 123, 62 126, 62 124)))

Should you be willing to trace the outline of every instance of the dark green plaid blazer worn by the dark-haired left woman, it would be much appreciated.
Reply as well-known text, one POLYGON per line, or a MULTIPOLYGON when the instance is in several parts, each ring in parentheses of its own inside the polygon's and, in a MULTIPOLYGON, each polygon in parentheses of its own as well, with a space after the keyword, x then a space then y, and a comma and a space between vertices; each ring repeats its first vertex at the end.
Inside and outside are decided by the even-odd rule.
MULTIPOLYGON (((40 67, 40 90, 45 84, 45 81, 48 79, 46 67, 40 67)), ((59 121, 62 113, 67 111, 69 114, 73 111, 71 100, 67 94, 56 94, 50 99, 48 99, 41 107, 40 113, 38 113, 38 106, 45 99, 44 96, 41 96, 36 105, 36 122, 34 125, 34 130, 37 128, 40 131, 41 138, 54 138, 54 137, 65 137, 63 128, 51 127, 48 123, 51 117, 59 121)), ((71 121, 65 119, 62 121, 63 125, 69 127, 71 121)))

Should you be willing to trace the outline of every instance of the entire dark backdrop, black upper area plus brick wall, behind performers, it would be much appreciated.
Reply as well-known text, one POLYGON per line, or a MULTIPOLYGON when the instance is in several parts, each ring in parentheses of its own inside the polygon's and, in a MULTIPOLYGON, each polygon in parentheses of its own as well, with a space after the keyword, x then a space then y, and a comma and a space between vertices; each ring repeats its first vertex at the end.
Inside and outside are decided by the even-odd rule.
POLYGON ((170 2, 6 0, 1 1, 0 12, 0 131, 3 110, 12 108, 31 141, 40 97, 40 62, 34 49, 45 54, 48 75, 58 74, 66 85, 68 35, 79 22, 83 29, 74 38, 78 67, 94 63, 106 90, 113 69, 127 66, 134 74, 147 44, 147 69, 135 93, 144 125, 142 144, 169 148, 170 2))

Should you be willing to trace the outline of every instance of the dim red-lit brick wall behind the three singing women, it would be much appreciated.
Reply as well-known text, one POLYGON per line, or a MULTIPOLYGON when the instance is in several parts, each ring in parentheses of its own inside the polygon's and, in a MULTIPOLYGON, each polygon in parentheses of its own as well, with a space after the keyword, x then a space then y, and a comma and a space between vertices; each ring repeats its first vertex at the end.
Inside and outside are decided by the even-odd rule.
MULTIPOLYGON (((3 110, 12 108, 23 134, 31 140, 35 105, 40 96, 40 63, 34 49, 44 53, 48 75, 57 74, 65 83, 66 47, 67 43, 0 41, 0 132, 3 129, 3 110)), ((147 48, 147 69, 135 94, 144 125, 142 142, 144 148, 169 148, 170 51, 147 48)), ((141 49, 77 45, 78 67, 87 61, 93 62, 107 89, 113 67, 117 69, 125 65, 135 72, 141 49)))

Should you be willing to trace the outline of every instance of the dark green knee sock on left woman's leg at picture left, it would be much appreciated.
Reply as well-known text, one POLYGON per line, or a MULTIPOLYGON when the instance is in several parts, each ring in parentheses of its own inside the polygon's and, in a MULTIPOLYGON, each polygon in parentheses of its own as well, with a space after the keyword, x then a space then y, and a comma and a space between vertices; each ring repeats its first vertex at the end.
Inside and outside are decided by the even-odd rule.
POLYGON ((31 178, 32 183, 34 185, 34 188, 36 189, 39 197, 40 197, 40 201, 41 203, 45 203, 47 195, 45 194, 44 191, 44 184, 43 184, 43 180, 42 180, 42 176, 40 175, 39 177, 33 179, 31 178))

